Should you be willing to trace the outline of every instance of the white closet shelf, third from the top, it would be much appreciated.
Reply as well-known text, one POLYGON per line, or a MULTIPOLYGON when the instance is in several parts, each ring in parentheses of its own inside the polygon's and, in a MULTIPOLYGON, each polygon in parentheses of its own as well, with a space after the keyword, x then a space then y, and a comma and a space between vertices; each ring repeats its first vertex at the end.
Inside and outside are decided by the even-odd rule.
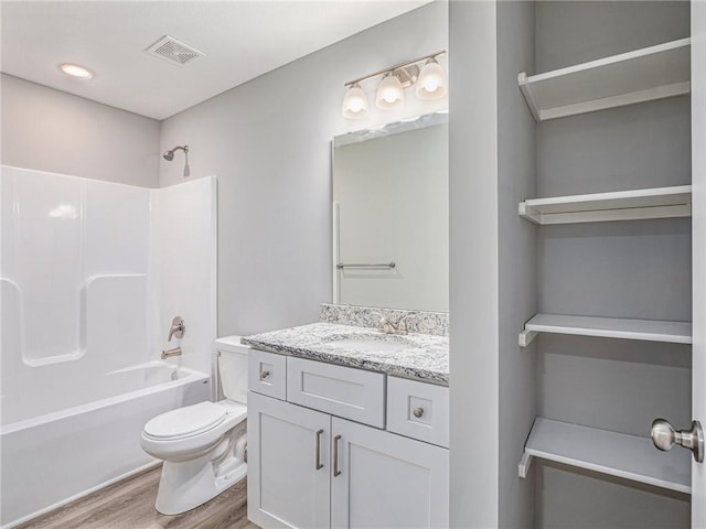
POLYGON ((525 330, 520 333, 520 346, 530 345, 537 333, 642 339, 672 344, 692 343, 692 324, 686 322, 536 314, 525 323, 525 330))

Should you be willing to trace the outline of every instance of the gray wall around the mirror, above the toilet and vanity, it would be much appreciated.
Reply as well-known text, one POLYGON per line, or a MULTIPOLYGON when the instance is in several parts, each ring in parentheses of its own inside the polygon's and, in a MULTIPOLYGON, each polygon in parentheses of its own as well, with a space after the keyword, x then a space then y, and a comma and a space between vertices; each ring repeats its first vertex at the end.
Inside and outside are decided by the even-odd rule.
MULTIPOLYGON (((218 177, 218 334, 310 323, 331 300, 331 140, 343 84, 448 47, 435 2, 197 105, 162 123, 162 150, 190 145, 192 177, 218 177)), ((392 118, 394 119, 394 118, 392 118)), ((160 185, 182 181, 162 161, 160 185)))

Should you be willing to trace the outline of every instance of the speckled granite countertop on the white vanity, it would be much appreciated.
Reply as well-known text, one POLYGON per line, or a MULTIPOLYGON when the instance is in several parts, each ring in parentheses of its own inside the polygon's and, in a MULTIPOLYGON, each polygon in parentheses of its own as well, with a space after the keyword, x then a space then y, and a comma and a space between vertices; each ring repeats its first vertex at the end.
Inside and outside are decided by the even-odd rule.
POLYGON ((240 342, 271 353, 381 371, 394 377, 443 386, 449 384, 449 338, 447 336, 415 333, 404 336, 385 335, 370 327, 320 322, 255 334, 242 338, 240 342), (343 343, 336 344, 352 335, 365 341, 399 342, 405 348, 371 352, 347 348, 343 343))

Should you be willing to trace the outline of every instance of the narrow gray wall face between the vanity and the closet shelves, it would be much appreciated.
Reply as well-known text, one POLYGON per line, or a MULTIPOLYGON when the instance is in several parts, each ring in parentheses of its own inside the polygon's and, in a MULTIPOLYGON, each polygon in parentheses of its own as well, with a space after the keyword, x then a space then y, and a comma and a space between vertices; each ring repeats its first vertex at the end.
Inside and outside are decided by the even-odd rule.
MULTIPOLYGON (((449 4, 451 527, 499 527, 495 2, 449 4)), ((515 456, 518 457, 520 454, 515 456)))

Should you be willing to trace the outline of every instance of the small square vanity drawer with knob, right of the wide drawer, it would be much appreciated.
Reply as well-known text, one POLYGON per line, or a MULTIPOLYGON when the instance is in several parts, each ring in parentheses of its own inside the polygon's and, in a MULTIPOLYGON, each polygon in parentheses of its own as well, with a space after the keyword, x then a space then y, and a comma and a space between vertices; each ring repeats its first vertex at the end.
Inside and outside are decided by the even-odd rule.
POLYGON ((448 447, 449 388, 389 377, 387 430, 448 447))

